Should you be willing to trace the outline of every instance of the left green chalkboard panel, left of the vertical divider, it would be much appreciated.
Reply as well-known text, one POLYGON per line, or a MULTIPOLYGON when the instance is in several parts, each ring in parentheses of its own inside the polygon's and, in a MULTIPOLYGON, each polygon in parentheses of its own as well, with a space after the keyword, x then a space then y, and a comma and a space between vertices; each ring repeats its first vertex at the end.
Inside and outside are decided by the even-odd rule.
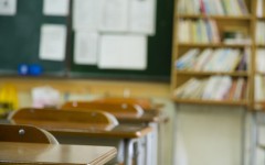
POLYGON ((40 31, 44 23, 67 24, 67 18, 44 16, 43 0, 18 0, 17 14, 0 15, 0 72, 15 74, 20 64, 38 64, 44 74, 64 75, 65 62, 39 58, 40 31))

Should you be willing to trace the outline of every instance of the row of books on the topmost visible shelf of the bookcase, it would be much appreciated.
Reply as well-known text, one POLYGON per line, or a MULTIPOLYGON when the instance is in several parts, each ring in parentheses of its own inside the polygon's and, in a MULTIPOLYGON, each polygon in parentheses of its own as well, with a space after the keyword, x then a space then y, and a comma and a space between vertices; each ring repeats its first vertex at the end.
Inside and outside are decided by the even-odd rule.
POLYGON ((179 14, 247 15, 244 0, 179 0, 179 14))

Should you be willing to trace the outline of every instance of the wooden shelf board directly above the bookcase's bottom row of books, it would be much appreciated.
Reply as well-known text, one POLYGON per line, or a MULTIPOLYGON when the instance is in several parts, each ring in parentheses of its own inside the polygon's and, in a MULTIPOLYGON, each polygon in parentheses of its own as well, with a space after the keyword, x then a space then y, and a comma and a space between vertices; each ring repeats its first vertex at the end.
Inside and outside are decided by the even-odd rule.
POLYGON ((193 72, 193 70, 176 70, 178 75, 191 75, 191 76, 211 76, 211 75, 227 75, 233 77, 247 77, 246 72, 224 73, 224 72, 193 72))

